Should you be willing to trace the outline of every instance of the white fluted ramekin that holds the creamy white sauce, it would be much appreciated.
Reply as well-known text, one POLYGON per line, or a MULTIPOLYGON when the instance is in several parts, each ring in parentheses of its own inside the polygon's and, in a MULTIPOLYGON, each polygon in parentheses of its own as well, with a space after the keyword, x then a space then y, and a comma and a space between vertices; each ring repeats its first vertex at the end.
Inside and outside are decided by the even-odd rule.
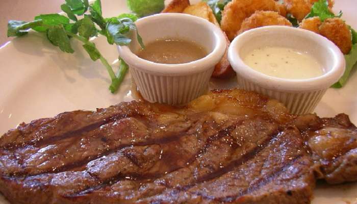
POLYGON ((327 88, 345 71, 344 56, 333 42, 311 31, 277 25, 252 29, 237 36, 228 48, 228 60, 241 88, 281 101, 292 114, 311 113, 327 88), (247 53, 265 46, 307 52, 323 66, 324 73, 316 78, 290 80, 271 77, 244 64, 242 58, 247 53))

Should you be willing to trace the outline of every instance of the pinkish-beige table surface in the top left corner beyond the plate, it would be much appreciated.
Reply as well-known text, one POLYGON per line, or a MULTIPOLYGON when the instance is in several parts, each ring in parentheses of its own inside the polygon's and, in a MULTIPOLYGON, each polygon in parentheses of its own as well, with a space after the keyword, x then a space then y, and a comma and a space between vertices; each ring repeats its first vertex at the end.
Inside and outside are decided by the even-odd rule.
POLYGON ((6 36, 9 20, 33 20, 46 13, 59 13, 64 0, 1 0, 0 6, 0 45, 11 40, 6 36))

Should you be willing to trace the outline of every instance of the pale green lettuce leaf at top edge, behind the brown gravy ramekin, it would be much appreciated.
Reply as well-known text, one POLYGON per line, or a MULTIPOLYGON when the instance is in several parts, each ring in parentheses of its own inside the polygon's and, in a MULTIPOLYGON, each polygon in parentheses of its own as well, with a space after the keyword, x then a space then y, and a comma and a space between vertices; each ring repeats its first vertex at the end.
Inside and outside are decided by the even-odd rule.
POLYGON ((139 17, 159 13, 165 7, 164 0, 126 0, 126 4, 139 17))

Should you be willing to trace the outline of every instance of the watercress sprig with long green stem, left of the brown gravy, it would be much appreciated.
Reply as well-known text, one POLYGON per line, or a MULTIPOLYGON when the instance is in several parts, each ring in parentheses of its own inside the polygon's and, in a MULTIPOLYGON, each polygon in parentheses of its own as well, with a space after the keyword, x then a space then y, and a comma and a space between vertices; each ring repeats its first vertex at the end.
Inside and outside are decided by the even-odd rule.
POLYGON ((109 89, 114 93, 123 81, 128 66, 123 60, 120 60, 120 69, 115 74, 108 61, 89 39, 99 33, 104 35, 110 44, 128 45, 132 41, 130 34, 135 32, 139 44, 144 47, 134 23, 138 17, 134 14, 121 14, 117 17, 104 18, 100 0, 95 0, 90 5, 88 0, 66 0, 66 3, 61 5, 61 9, 68 17, 59 14, 44 14, 36 16, 35 20, 31 22, 10 20, 8 22, 8 37, 23 36, 28 33, 29 29, 33 29, 45 33, 53 45, 58 46, 66 53, 74 52, 70 38, 81 41, 89 57, 93 61, 100 60, 107 68, 112 80, 109 89), (88 10, 89 13, 86 13, 88 10), (80 19, 79 16, 81 16, 80 19))

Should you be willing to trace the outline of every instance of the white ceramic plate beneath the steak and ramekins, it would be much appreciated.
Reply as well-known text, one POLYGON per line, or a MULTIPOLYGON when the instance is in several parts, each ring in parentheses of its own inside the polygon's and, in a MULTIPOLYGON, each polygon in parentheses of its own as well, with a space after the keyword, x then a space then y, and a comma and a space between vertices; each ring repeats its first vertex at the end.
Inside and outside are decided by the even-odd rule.
MULTIPOLYGON (((335 12, 344 12, 343 19, 353 28, 357 28, 355 1, 339 0, 334 7, 335 12)), ((107 17, 129 11, 125 0, 103 0, 102 5, 107 17)), ((103 37, 93 41, 109 62, 115 62, 118 57, 115 46, 108 45, 103 37)), ((111 94, 106 69, 100 62, 92 62, 80 44, 73 47, 74 54, 65 54, 41 35, 31 33, 0 48, 0 135, 20 122, 53 117, 65 111, 94 110, 133 99, 129 74, 118 93, 111 94)), ((211 88, 235 86, 235 79, 230 82, 211 81, 211 88)), ((356 87, 357 73, 344 88, 329 89, 316 113, 321 117, 346 113, 357 124, 356 87)), ((319 184, 314 195, 315 204, 353 203, 357 201, 357 183, 339 186, 319 184)), ((7 202, 0 196, 0 204, 3 203, 7 202)))

